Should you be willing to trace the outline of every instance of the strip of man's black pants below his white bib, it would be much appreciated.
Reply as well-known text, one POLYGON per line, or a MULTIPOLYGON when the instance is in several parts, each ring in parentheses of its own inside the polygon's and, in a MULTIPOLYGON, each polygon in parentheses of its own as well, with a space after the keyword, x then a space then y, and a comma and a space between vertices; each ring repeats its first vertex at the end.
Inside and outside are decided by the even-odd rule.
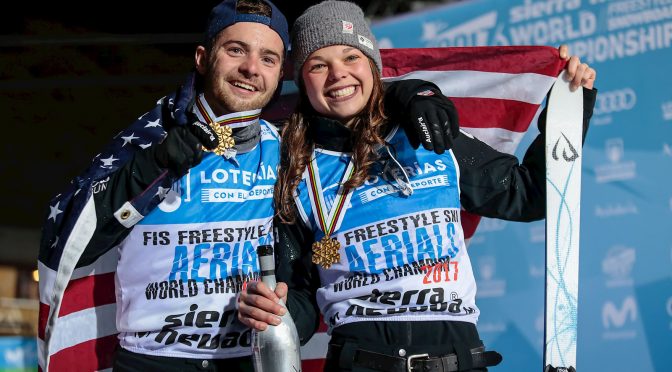
POLYGON ((115 372, 252 372, 252 358, 192 359, 160 357, 130 352, 118 347, 114 358, 115 372))

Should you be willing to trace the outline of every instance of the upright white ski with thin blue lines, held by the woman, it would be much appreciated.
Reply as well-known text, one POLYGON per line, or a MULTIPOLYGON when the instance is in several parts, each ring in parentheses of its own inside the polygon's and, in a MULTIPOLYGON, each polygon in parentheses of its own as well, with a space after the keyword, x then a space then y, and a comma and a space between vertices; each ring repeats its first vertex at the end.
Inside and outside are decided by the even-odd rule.
POLYGON ((582 132, 583 90, 563 71, 546 117, 545 372, 576 371, 582 132))

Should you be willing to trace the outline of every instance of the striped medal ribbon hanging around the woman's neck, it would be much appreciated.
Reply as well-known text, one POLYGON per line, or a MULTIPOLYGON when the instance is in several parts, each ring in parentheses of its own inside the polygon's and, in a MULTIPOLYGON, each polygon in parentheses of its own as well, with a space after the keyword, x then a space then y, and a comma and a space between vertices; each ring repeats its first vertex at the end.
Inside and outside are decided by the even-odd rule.
POLYGON ((331 234, 336 231, 343 223, 345 217, 345 206, 352 197, 352 190, 345 188, 345 183, 350 180, 354 173, 354 163, 352 160, 348 163, 341 185, 336 192, 336 198, 328 211, 327 204, 324 200, 324 190, 322 189, 322 182, 320 181, 319 168, 317 167, 317 156, 313 150, 313 156, 310 164, 307 167, 308 172, 308 196, 310 197, 310 205, 317 221, 317 227, 324 232, 324 235, 329 238, 331 234))

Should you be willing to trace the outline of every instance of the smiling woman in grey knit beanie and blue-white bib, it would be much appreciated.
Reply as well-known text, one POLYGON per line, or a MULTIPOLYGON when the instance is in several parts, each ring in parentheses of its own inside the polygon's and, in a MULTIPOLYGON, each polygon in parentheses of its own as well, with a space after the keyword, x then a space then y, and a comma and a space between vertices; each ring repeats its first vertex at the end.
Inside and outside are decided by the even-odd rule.
MULTIPOLYGON (((250 284, 239 318, 257 329, 277 324, 283 298, 307 341, 319 307, 331 333, 326 370, 498 364, 501 356, 485 351, 476 330, 460 209, 543 218, 543 136, 522 164, 464 132, 444 154, 415 150, 403 128, 386 120, 379 51, 352 3, 306 10, 294 24, 292 53, 301 102, 282 134, 289 156, 275 193, 280 216, 294 222, 280 228, 276 265, 289 296, 284 285, 273 293, 250 284), (428 272, 441 280, 427 281, 428 272)), ((572 57, 568 72, 585 88, 587 128, 595 71, 572 57)))

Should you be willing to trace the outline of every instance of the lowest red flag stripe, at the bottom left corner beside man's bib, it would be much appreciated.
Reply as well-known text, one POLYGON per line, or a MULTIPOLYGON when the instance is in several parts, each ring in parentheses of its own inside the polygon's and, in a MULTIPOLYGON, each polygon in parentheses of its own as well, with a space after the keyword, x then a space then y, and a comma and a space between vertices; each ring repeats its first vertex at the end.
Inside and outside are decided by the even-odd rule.
POLYGON ((50 371, 98 371, 111 368, 117 335, 97 338, 65 348, 49 359, 50 371))

